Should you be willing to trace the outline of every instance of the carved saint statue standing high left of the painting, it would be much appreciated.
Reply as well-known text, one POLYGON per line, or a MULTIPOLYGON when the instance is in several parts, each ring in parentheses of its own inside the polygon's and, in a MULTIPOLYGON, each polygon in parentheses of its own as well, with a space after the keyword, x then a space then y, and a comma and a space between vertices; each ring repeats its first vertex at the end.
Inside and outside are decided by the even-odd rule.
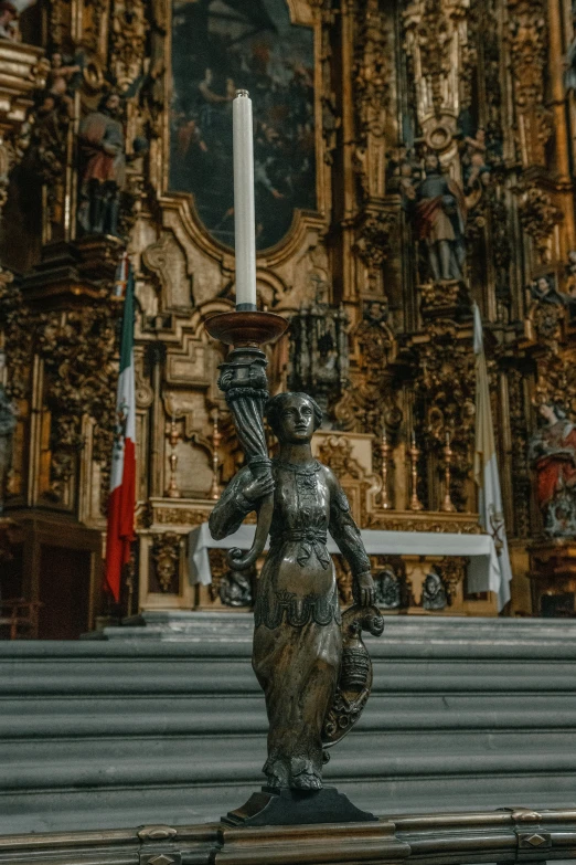
POLYGON ((78 222, 89 234, 118 235, 120 191, 126 180, 120 104, 119 95, 109 93, 98 110, 84 117, 78 130, 83 156, 78 222))

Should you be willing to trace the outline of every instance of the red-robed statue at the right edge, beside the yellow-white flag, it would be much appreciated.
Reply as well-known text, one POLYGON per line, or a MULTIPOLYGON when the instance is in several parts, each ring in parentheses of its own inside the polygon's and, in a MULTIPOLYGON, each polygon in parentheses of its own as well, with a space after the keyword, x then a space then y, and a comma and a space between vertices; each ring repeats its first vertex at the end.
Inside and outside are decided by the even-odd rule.
POLYGON ((576 535, 576 430, 566 410, 553 402, 538 409, 544 425, 530 443, 536 500, 550 537, 576 535))

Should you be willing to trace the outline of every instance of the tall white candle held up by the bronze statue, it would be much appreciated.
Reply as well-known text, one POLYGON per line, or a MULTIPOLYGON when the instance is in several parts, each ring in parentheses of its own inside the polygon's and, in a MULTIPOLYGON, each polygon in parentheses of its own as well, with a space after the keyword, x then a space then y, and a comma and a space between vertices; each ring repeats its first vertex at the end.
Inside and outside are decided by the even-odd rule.
POLYGON ((234 233, 236 308, 256 308, 256 234, 254 217, 254 148, 252 99, 236 91, 232 110, 234 131, 234 233))

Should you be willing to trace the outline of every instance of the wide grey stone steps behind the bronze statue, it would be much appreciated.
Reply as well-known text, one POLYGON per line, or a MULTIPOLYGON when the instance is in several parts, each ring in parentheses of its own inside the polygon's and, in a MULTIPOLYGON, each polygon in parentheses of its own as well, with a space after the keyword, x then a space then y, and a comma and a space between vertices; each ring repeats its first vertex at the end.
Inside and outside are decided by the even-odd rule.
MULTIPOLYGON (((0 643, 0 833, 214 821, 262 785, 250 616, 0 643)), ((576 808, 576 624, 390 616, 326 780, 377 814, 576 808)))

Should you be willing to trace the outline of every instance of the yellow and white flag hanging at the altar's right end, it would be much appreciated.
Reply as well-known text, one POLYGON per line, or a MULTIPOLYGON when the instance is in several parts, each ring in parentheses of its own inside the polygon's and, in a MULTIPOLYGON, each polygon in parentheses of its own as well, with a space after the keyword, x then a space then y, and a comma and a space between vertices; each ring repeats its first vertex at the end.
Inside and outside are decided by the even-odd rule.
MULTIPOLYGON (((506 529, 502 507, 502 493, 490 408, 490 389, 482 334, 482 319, 478 304, 474 313, 474 355, 476 355, 476 442, 474 479, 478 485, 478 511, 480 525, 492 536, 495 559, 490 569, 490 589, 498 593, 499 611, 510 601, 510 581, 512 570, 508 552, 506 529)), ((473 580, 468 581, 469 591, 476 591, 473 580)))

